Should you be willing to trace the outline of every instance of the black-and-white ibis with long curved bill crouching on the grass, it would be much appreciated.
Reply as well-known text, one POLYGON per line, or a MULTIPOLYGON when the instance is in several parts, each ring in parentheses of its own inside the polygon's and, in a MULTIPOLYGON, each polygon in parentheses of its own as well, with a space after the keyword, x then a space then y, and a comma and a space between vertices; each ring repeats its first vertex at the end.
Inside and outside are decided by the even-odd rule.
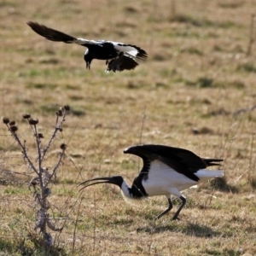
POLYGON ((123 194, 131 199, 143 199, 148 196, 166 195, 169 206, 156 218, 162 217, 172 209, 171 195, 182 201, 172 219, 177 219, 179 212, 186 204, 186 198, 180 193, 183 189, 206 181, 211 177, 223 177, 223 170, 206 170, 208 166, 220 166, 221 159, 201 158, 183 148, 163 145, 137 145, 125 148, 125 154, 136 154, 143 159, 143 168, 134 179, 131 187, 121 176, 96 177, 79 185, 87 188, 98 183, 118 185, 123 194))

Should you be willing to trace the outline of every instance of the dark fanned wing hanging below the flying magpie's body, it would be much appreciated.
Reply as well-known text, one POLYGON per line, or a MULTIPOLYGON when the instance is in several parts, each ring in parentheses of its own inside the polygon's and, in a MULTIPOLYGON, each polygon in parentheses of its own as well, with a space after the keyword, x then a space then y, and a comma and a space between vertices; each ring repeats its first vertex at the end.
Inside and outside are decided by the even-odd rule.
POLYGON ((125 69, 131 70, 138 66, 137 61, 135 61, 130 56, 120 54, 118 57, 106 62, 108 65, 107 72, 113 71, 123 71, 125 69))

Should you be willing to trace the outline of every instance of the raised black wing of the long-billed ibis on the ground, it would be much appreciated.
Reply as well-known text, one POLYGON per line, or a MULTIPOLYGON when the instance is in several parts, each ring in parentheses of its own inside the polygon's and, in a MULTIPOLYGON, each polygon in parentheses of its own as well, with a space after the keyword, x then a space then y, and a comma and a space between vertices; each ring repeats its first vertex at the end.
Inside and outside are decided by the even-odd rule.
POLYGON ((198 170, 207 168, 207 166, 219 165, 212 163, 215 159, 201 159, 201 157, 187 149, 173 148, 163 145, 145 144, 132 146, 126 148, 124 153, 136 154, 143 158, 144 162, 145 160, 160 160, 176 172, 183 173, 183 175, 195 181, 199 180, 199 177, 195 175, 198 170))

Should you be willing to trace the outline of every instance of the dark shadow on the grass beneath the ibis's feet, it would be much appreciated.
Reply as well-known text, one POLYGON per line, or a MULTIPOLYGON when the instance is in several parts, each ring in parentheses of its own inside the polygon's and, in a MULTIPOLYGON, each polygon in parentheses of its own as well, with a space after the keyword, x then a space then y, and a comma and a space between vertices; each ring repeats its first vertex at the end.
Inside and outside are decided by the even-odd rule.
POLYGON ((187 236, 197 236, 197 237, 214 237, 214 236, 221 236, 221 232, 212 230, 210 227, 204 224, 194 224, 194 223, 187 223, 185 225, 180 225, 179 223, 170 223, 166 224, 165 226, 148 226, 143 228, 138 228, 137 232, 145 232, 149 234, 157 234, 166 231, 172 231, 177 233, 183 233, 187 236))

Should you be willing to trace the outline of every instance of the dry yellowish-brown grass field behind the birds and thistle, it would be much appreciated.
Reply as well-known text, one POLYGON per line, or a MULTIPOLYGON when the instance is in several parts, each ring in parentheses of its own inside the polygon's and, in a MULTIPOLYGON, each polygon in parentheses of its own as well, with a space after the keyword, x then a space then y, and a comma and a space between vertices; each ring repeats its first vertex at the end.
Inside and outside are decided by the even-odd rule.
MULTIPOLYGON (((39 119, 47 141, 57 109, 72 108, 44 162, 53 168, 67 143, 49 197, 50 215, 64 228, 51 231, 49 255, 256 255, 253 0, 2 0, 0 6, 1 119, 15 119, 32 159, 35 144, 22 114, 39 119), (47 41, 28 20, 74 37, 137 44, 148 61, 131 72, 105 73, 104 61, 94 60, 88 71, 85 48, 47 41), (138 143, 223 158, 225 179, 183 191, 188 203, 180 221, 170 220, 175 209, 154 220, 165 197, 127 204, 108 184, 79 193, 77 184, 91 177, 119 174, 131 183, 142 162, 123 149, 138 143)), ((0 255, 41 255, 28 189, 34 175, 3 123, 0 134, 0 255)))

